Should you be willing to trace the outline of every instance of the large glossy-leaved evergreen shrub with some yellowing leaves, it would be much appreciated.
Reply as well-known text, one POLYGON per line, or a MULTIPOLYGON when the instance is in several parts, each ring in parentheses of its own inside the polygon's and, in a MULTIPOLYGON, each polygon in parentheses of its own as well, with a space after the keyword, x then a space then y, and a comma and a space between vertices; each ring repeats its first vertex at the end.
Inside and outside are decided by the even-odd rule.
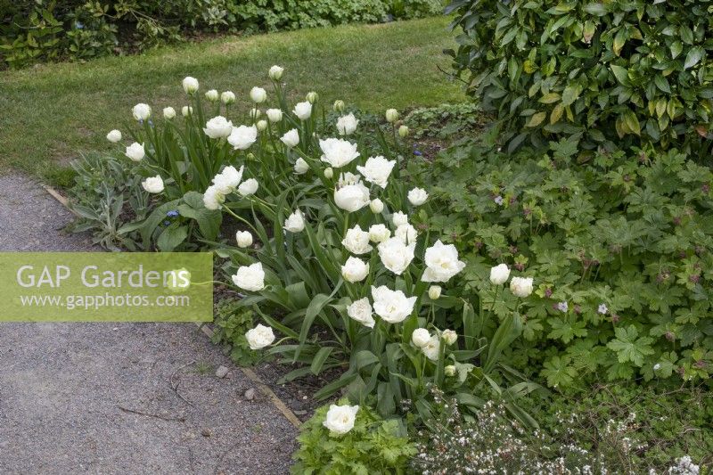
POLYGON ((455 0, 447 11, 463 28, 455 68, 510 150, 562 136, 585 148, 713 137, 708 1, 455 0))

